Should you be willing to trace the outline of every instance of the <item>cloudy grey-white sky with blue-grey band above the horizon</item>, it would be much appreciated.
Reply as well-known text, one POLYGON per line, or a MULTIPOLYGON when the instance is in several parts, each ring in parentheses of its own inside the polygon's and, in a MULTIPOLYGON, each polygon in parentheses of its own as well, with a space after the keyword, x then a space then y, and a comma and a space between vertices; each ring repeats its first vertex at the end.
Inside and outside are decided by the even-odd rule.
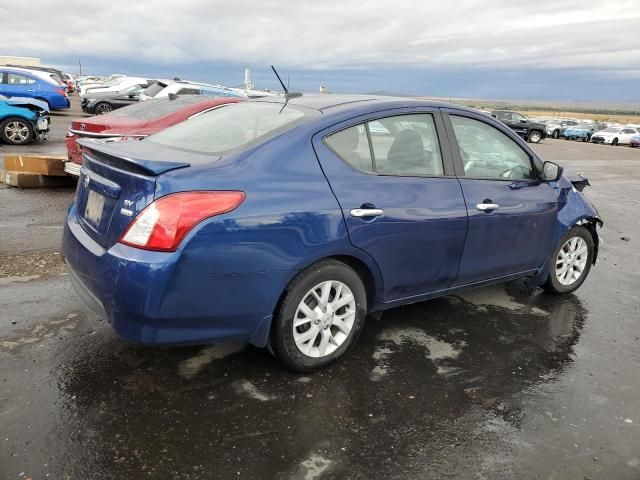
POLYGON ((639 0, 31 0, 0 18, 0 55, 71 73, 231 86, 248 66, 275 87, 275 64, 303 91, 640 101, 639 0))

